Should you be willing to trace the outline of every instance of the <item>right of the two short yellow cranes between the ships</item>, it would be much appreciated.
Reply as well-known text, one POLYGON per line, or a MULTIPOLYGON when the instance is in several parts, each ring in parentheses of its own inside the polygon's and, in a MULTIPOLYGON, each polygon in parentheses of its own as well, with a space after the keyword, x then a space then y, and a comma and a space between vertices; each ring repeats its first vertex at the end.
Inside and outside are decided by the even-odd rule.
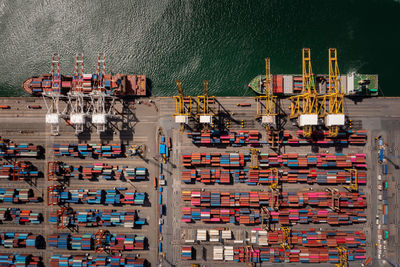
POLYGON ((215 97, 208 95, 208 81, 203 81, 204 95, 197 96, 197 116, 200 123, 210 125, 213 122, 215 112, 215 97))

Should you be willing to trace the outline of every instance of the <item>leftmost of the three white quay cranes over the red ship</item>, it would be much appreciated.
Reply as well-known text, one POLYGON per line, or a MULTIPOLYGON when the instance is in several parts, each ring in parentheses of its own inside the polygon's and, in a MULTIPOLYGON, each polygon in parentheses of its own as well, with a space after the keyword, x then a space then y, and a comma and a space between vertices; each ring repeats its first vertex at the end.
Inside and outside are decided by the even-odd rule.
POLYGON ((61 75, 60 55, 57 53, 53 54, 51 59, 50 75, 51 90, 44 90, 42 95, 43 102, 47 108, 46 124, 50 124, 51 135, 58 135, 60 131, 60 117, 64 115, 65 110, 60 113, 61 75))

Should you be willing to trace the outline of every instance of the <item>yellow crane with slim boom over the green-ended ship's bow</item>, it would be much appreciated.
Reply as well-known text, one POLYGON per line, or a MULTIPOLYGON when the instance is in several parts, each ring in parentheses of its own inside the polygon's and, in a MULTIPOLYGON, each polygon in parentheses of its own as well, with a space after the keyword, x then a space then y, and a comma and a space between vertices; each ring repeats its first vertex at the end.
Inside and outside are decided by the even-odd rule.
POLYGON ((265 58, 265 95, 255 97, 257 103, 257 116, 261 118, 262 123, 266 124, 265 129, 268 131, 271 125, 275 124, 276 113, 276 96, 272 91, 272 75, 270 59, 265 58))

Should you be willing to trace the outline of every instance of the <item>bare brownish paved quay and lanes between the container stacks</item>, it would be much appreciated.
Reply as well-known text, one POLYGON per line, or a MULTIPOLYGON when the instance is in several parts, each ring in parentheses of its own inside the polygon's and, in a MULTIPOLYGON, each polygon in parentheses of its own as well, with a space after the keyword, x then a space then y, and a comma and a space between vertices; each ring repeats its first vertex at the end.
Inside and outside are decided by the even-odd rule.
MULTIPOLYGON (((27 109, 27 105, 33 104, 32 101, 35 101, 35 104, 40 104, 43 107, 43 100, 34 99, 34 98, 0 98, 1 104, 8 104, 11 106, 9 110, 1 110, 0 111, 0 123, 3 125, 2 129, 0 129, 0 135, 4 138, 10 138, 16 142, 32 142, 38 145, 42 145, 46 148, 46 159, 32 159, 32 163, 39 168, 43 173, 46 173, 47 162, 53 160, 53 155, 51 152, 51 147, 53 143, 78 143, 78 142, 95 142, 100 143, 124 143, 124 144, 141 144, 145 143, 147 145, 147 154, 146 159, 142 160, 139 158, 132 159, 122 159, 122 160, 103 160, 103 162, 112 162, 113 164, 118 165, 129 165, 133 167, 146 167, 149 169, 149 181, 146 182, 137 182, 137 183, 123 183, 123 182, 86 182, 86 181, 71 181, 69 184, 69 188, 114 188, 118 186, 124 186, 129 188, 136 188, 138 191, 147 192, 149 205, 145 207, 134 206, 127 207, 127 209, 137 209, 139 210, 140 217, 146 217, 148 219, 149 224, 144 226, 142 229, 125 229, 125 228, 112 228, 111 232, 118 233, 141 233, 147 236, 149 240, 149 250, 138 252, 141 257, 145 257, 148 259, 151 266, 156 266, 159 262, 160 255, 158 255, 158 240, 160 239, 158 233, 158 192, 153 189, 152 179, 154 176, 158 176, 159 173, 159 160, 157 158, 157 144, 158 144, 158 136, 157 136, 157 128, 161 126, 163 132, 166 136, 171 137, 173 141, 173 150, 171 154, 170 161, 164 166, 163 174, 167 179, 167 186, 164 188, 163 194, 163 203, 166 205, 165 212, 166 216, 164 218, 164 225, 162 228, 162 244, 163 251, 165 253, 165 259, 162 261, 164 266, 188 266, 190 262, 183 262, 180 259, 180 247, 184 244, 184 239, 187 236, 190 236, 192 232, 190 229, 202 228, 202 229, 212 229, 215 228, 215 225, 204 225, 204 224, 192 224, 186 225, 181 224, 180 222, 180 207, 181 196, 180 192, 185 188, 206 188, 206 189, 223 189, 223 190, 247 190, 254 189, 256 187, 248 187, 247 185, 240 186, 204 186, 201 184, 196 185, 184 185, 180 181, 180 172, 181 172, 181 161, 180 154, 184 152, 193 152, 199 151, 199 148, 194 147, 191 142, 187 139, 186 135, 181 135, 179 133, 179 126, 173 123, 173 119, 171 114, 174 112, 174 103, 171 98, 153 98, 156 103, 157 109, 150 105, 145 104, 136 104, 133 106, 125 106, 124 108, 120 103, 116 105, 117 113, 121 113, 117 116, 112 124, 113 130, 108 132, 106 135, 99 136, 96 133, 94 127, 91 127, 90 134, 83 134, 80 136, 76 136, 73 132, 71 126, 66 126, 64 123, 61 125, 60 136, 50 136, 49 127, 44 124, 44 116, 46 110, 29 110, 27 109), (115 133, 113 133, 113 131, 115 133)), ((147 100, 145 100, 147 101, 147 100)), ((225 112, 233 115, 230 118, 230 124, 232 130, 241 129, 240 121, 244 120, 246 129, 259 129, 262 130, 261 125, 254 120, 255 116, 255 102, 252 98, 237 98, 237 97, 224 97, 218 98, 220 102, 220 106, 218 107, 220 110, 224 110, 225 112), (251 107, 237 107, 236 103, 239 102, 248 102, 252 103, 251 107)), ((389 215, 388 222, 389 224, 386 226, 382 226, 381 229, 390 230, 390 237, 387 244, 382 244, 381 249, 382 253, 386 255, 385 257, 400 262, 400 255, 396 253, 400 251, 400 243, 399 243, 399 222, 400 222, 400 211, 399 211, 399 168, 397 165, 399 164, 399 147, 400 147, 400 137, 397 134, 400 130, 400 109, 399 106, 400 99, 397 98, 379 98, 379 99, 364 99, 362 102, 354 103, 353 101, 346 101, 346 113, 353 119, 355 127, 359 127, 362 129, 366 129, 368 131, 368 145, 364 147, 348 147, 344 148, 344 153, 349 152, 365 152, 368 155, 368 166, 369 166, 369 174, 368 174, 368 184, 366 187, 361 190, 367 193, 368 196, 368 214, 369 220, 368 222, 361 226, 363 230, 367 233, 368 239, 368 256, 371 255, 374 258, 373 266, 382 266, 384 264, 383 261, 379 261, 377 258, 377 247, 375 246, 378 243, 377 240, 377 228, 376 225, 376 214, 378 209, 379 201, 377 199, 377 175, 380 169, 380 166, 377 165, 377 151, 374 143, 374 138, 378 135, 382 135, 385 142, 388 143, 387 149, 387 162, 389 164, 389 175, 387 181, 389 182, 388 191, 388 203, 389 203, 389 215)), ((286 101, 282 102, 282 110, 287 112, 288 103, 286 101)), ((226 120, 226 119, 224 119, 226 120)), ((285 128, 287 129, 296 129, 295 126, 285 120, 283 121, 285 128)), ((248 151, 248 148, 227 148, 227 149, 216 149, 216 148, 202 148, 201 151, 248 151)), ((318 150, 329 150, 339 151, 338 148, 330 147, 330 148, 318 148, 318 147, 284 147, 282 152, 316 152, 318 150)), ((267 152, 270 151, 270 148, 264 147, 262 151, 267 152)), ((72 158, 62 158, 63 161, 68 163, 80 163, 80 165, 85 165, 94 162, 94 160, 76 160, 72 158)), ((34 185, 29 185, 26 182, 13 182, 10 184, 8 181, 0 181, 0 187, 18 187, 18 188, 33 188, 35 193, 38 195, 43 195, 46 198, 46 189, 51 182, 47 182, 46 179, 39 178, 34 185)), ((286 185, 284 185, 286 186, 286 185)), ((298 190, 301 187, 307 187, 305 185, 296 185, 296 186, 287 186, 287 190, 298 190)), ((49 212, 55 211, 57 207, 47 207, 43 204, 31 204, 31 205, 5 205, 4 203, 0 204, 0 207, 23 207, 23 208, 31 208, 34 211, 40 211, 43 213, 45 217, 44 223, 40 226, 18 226, 18 225, 2 225, 2 231, 29 231, 32 233, 41 233, 43 235, 48 235, 50 233, 57 233, 61 230, 57 230, 55 226, 47 223, 49 212)), ((75 209, 83 210, 86 208, 96 208, 96 209, 110 209, 108 206, 98 206, 98 205, 76 205, 75 209)), ((117 207, 115 209, 123 210, 125 207, 117 207)), ((219 227, 221 225, 218 225, 219 227)), ((230 229, 234 231, 238 231, 237 235, 245 236, 246 230, 248 231, 249 227, 237 227, 233 225, 229 225, 230 229)), ((304 227, 304 226, 302 226, 304 227)), ((325 229, 327 226, 321 226, 325 229)), ((352 229, 360 229, 360 226, 351 226, 342 228, 340 230, 352 230, 352 229)), ((331 228, 331 227, 327 227, 331 228)), ((80 233, 84 232, 94 232, 97 229, 80 229, 80 233)), ((63 230, 62 232, 64 232, 63 230)), ((242 236, 241 236, 242 238, 242 236)), ((244 239, 244 238, 243 238, 244 239)), ((206 245, 200 247, 196 245, 196 250, 198 251, 197 255, 198 261, 202 265, 205 266, 215 266, 218 265, 232 265, 232 263, 215 263, 210 262, 212 258, 212 249, 211 246, 206 245), (203 261, 200 255, 204 255, 207 261, 203 261)), ((84 254, 84 252, 79 251, 63 251, 56 249, 46 249, 46 250, 26 250, 26 249, 18 249, 20 253, 32 253, 35 255, 41 255, 44 257, 45 262, 48 262, 49 257, 52 254, 84 254)), ((6 252, 4 249, 0 249, 0 252, 6 252)), ((9 250, 7 250, 9 252, 9 250)), ((127 254, 135 254, 135 253, 127 253, 127 254)), ((382 257, 383 259, 384 257, 382 257)), ((263 266, 272 265, 272 264, 263 264, 263 266)), ((282 264, 283 266, 284 264, 282 264)), ((358 266, 357 264, 351 264, 351 266, 358 266)), ((289 265, 288 265, 289 266, 289 265)), ((290 264, 290 266, 294 266, 290 264)), ((299 266, 305 266, 301 264, 299 266)), ((322 264, 321 264, 322 266, 322 264)), ((328 266, 328 265, 327 265, 328 266)), ((331 265, 329 265, 331 266, 331 265)))

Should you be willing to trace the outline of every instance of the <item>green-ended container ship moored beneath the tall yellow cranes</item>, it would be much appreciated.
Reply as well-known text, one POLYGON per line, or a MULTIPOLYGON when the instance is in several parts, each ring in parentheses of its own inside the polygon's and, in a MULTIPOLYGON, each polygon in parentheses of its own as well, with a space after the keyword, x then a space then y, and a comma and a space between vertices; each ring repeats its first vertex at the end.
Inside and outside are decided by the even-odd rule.
MULTIPOLYGON (((328 75, 317 74, 315 87, 320 94, 327 92, 328 75)), ((378 96, 378 75, 349 73, 340 76, 342 91, 347 96, 378 96)), ((265 75, 256 76, 249 83, 249 87, 259 95, 265 94, 265 75)), ((272 88, 274 94, 296 95, 303 89, 301 75, 279 74, 272 75, 272 88)))

